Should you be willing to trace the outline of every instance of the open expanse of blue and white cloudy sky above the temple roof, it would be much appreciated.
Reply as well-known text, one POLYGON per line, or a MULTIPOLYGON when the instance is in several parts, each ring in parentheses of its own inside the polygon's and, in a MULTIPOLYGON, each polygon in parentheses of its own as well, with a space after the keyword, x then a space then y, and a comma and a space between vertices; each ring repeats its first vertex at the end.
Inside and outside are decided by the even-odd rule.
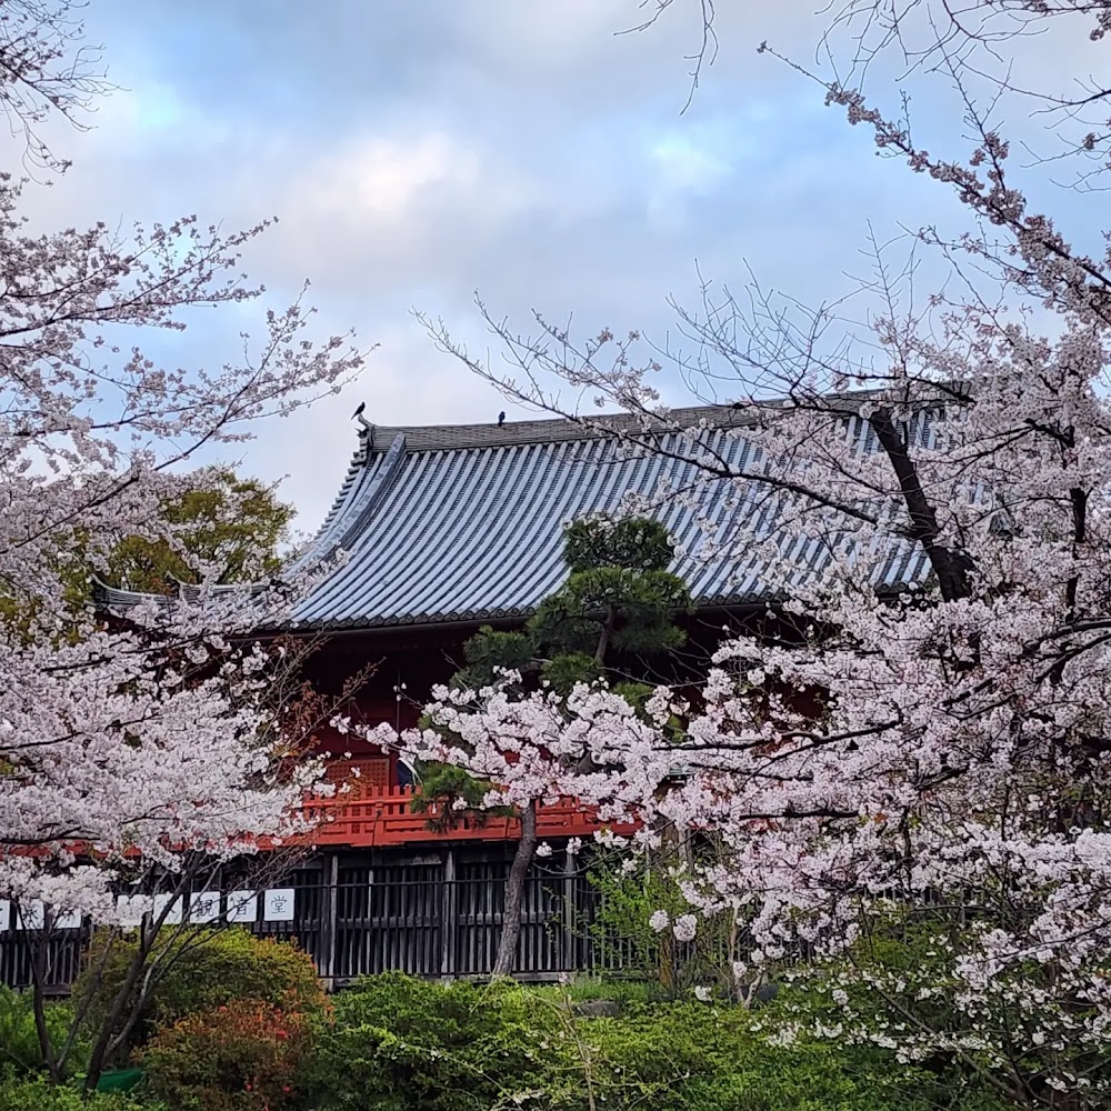
MULTIPOLYGON (((650 32, 615 36, 643 17, 639 0, 91 0, 89 37, 120 90, 93 130, 56 139, 74 166, 37 192, 34 218, 279 217, 248 257, 269 303, 309 278, 322 332, 354 327, 379 344, 341 397, 261 427, 236 457, 288 476, 312 529, 354 448, 358 402, 386 424, 504 407, 434 350, 414 307, 474 350, 492 342, 476 290, 522 330, 539 309, 573 312, 583 334, 662 339, 668 294, 697 293, 695 260, 813 303, 863 269, 869 223, 885 238, 954 216, 943 189, 875 158, 820 90, 757 54, 767 39, 813 59, 824 24, 804 2, 719 3, 718 60, 681 114, 697 8, 680 0, 650 32)), ((929 129, 953 106, 934 90, 915 109, 929 129)), ((252 320, 218 316, 167 358, 233 357, 252 320)))

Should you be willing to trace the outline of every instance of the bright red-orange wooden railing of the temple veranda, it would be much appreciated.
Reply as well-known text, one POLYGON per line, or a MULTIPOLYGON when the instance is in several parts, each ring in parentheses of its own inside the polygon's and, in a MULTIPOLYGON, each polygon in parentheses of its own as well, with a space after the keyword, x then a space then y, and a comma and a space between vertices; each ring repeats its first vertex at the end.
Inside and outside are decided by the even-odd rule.
MULTIPOLYGON (((304 810, 316 828, 306 840, 319 845, 369 849, 437 841, 511 841, 520 837, 521 824, 516 818, 490 815, 482 820, 460 814, 451 818, 447 829, 433 828, 432 823, 443 815, 434 804, 424 813, 414 812, 412 797, 412 788, 393 787, 357 799, 339 793, 313 798, 306 802, 304 810)), ((580 807, 573 799, 541 807, 537 815, 541 839, 591 837, 608 824, 611 823, 600 822, 592 810, 580 807)), ((635 827, 612 824, 612 829, 628 834, 635 827)))

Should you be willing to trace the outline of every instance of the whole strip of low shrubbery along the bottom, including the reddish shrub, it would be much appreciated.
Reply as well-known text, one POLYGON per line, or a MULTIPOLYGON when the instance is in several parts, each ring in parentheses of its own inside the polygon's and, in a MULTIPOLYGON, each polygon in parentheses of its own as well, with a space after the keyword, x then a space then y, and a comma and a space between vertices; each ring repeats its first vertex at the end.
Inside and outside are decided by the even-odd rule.
POLYGON ((339 993, 331 1014, 238 1000, 158 1032, 141 1055, 158 1103, 82 1103, 76 1089, 9 1073, 0 1111, 588 1111, 591 1101, 610 1111, 1007 1111, 974 1073, 809 1038, 807 1007, 828 1017, 813 988, 754 1011, 655 993, 622 981, 443 985, 388 973, 339 993), (575 1002, 598 998, 620 1000, 620 1015, 577 1013, 575 1002))

